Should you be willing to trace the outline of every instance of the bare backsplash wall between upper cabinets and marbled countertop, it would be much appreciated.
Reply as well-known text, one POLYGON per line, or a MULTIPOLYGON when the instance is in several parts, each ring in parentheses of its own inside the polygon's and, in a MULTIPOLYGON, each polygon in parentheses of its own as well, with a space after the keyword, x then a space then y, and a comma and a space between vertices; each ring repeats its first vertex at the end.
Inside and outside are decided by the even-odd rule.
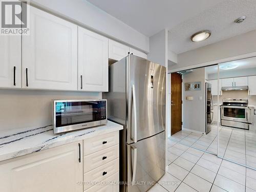
POLYGON ((0 90, 0 131, 52 124, 53 99, 98 99, 101 93, 0 90))

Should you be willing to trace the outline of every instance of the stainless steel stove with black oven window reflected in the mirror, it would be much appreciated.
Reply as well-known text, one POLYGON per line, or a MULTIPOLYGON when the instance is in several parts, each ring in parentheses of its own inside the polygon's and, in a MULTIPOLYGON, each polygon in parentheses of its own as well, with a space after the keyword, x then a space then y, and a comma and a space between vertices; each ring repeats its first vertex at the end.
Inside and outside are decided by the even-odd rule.
POLYGON ((250 109, 247 99, 224 99, 221 105, 221 125, 249 130, 250 109))

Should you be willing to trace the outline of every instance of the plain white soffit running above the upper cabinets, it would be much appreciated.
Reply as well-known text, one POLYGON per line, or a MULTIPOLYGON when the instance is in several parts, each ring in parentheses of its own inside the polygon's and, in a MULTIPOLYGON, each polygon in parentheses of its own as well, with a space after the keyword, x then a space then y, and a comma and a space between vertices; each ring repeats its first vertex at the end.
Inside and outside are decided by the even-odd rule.
POLYGON ((149 52, 149 38, 85 0, 31 0, 31 5, 61 15, 100 34, 149 52))

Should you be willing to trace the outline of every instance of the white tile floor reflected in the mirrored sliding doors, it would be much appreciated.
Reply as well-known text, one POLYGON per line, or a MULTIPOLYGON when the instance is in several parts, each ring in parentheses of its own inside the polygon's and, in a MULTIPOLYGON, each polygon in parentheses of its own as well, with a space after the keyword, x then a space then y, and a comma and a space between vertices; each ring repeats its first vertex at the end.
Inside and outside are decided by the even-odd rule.
MULTIPOLYGON (((255 138, 255 131, 220 126, 219 155, 256 168, 255 138)), ((207 135, 182 130, 171 136, 170 139, 217 154, 217 125, 212 125, 211 132, 207 135)), ((175 152, 173 153, 175 154, 175 152)), ((179 153, 177 152, 177 154, 179 153)))

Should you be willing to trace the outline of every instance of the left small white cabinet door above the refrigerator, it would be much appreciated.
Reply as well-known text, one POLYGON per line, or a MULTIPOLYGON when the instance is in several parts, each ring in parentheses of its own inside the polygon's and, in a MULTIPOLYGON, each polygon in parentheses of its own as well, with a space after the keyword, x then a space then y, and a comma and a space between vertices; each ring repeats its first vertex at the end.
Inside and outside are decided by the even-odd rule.
POLYGON ((126 57, 129 52, 130 52, 129 47, 109 39, 109 58, 110 59, 121 60, 123 57, 126 57))

